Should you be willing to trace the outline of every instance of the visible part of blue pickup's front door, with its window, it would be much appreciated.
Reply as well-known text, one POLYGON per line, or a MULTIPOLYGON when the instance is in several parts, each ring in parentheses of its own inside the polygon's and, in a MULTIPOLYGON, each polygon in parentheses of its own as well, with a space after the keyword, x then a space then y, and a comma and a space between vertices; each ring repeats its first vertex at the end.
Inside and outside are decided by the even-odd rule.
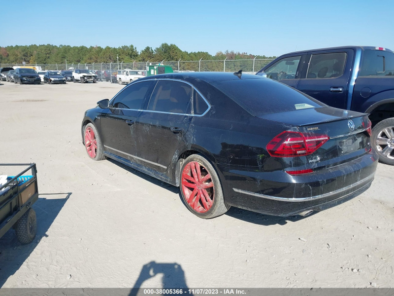
POLYGON ((269 66, 263 72, 259 72, 257 75, 266 75, 268 78, 278 80, 279 82, 297 88, 305 56, 306 54, 286 56, 269 66))

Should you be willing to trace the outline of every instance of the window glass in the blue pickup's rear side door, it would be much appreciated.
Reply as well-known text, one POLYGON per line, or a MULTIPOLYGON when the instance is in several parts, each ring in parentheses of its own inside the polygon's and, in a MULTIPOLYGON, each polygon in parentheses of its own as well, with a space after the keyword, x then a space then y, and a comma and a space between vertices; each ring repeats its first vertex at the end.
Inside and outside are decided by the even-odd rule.
POLYGON ((336 78, 345 69, 346 52, 312 54, 306 78, 336 78))

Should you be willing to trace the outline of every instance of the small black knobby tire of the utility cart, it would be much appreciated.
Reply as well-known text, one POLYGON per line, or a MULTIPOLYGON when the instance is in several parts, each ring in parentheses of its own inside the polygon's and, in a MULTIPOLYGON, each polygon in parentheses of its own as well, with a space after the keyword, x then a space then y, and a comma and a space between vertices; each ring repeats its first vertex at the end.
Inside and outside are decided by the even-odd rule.
POLYGON ((37 219, 32 208, 15 223, 15 233, 21 244, 30 244, 37 232, 37 219))

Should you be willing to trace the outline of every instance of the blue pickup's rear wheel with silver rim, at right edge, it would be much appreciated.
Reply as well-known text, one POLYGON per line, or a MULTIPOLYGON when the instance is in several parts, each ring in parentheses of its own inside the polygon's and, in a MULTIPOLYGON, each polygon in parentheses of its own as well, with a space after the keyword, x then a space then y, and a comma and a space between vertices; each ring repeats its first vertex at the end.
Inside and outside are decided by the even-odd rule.
POLYGON ((394 165, 394 118, 382 120, 373 127, 371 143, 380 162, 394 165))

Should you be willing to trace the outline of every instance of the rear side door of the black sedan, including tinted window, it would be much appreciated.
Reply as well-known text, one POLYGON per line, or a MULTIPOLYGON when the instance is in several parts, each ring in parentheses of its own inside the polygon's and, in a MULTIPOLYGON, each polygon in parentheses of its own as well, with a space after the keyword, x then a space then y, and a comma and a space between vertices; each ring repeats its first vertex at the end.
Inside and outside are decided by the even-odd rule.
POLYGON ((192 86, 158 80, 135 124, 137 161, 165 172, 192 120, 192 86))

